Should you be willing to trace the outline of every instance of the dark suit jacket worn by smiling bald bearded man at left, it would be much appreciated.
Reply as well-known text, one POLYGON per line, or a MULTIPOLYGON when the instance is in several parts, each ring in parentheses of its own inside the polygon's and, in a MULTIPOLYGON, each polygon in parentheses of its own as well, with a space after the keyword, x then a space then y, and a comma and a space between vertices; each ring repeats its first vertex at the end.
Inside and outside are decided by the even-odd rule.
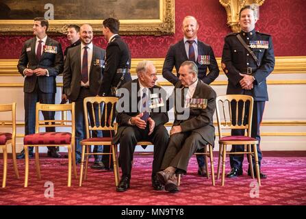
MULTIPOLYGON (((92 96, 96 96, 102 79, 102 66, 105 50, 93 45, 92 62, 89 72, 89 90, 92 96), (99 60, 97 62, 97 60, 99 60)), ((64 72, 64 92, 68 99, 75 101, 81 89, 81 44, 68 49, 64 72)))

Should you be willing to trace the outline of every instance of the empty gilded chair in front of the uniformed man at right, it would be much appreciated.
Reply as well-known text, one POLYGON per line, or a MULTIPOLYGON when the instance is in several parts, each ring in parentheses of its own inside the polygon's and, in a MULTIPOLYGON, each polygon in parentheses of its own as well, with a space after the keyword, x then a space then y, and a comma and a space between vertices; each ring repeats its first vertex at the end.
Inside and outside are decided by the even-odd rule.
POLYGON ((253 97, 248 95, 222 95, 216 98, 216 113, 219 133, 219 157, 217 179, 220 177, 220 164, 222 162, 221 185, 225 183, 225 160, 226 155, 248 156, 251 177, 254 179, 252 156, 255 159, 255 171, 258 184, 260 185, 259 164, 257 155, 258 140, 251 138, 253 97), (233 129, 244 129, 246 136, 224 136, 223 131, 233 129), (242 152, 228 152, 227 146, 247 145, 242 152), (253 146, 253 150, 251 149, 253 146))

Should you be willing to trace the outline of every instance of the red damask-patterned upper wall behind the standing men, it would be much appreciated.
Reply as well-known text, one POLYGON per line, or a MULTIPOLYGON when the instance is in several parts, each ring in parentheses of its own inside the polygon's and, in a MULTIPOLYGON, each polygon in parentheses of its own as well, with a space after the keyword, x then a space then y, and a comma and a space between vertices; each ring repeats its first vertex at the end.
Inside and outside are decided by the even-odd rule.
MULTIPOLYGON (((271 34, 275 55, 306 55, 305 0, 268 0, 260 7, 257 29, 271 34)), ((170 44, 182 38, 181 22, 184 16, 195 16, 200 29, 198 38, 211 44, 216 57, 222 54, 223 40, 231 29, 227 27, 225 9, 217 0, 175 0, 176 30, 172 36, 124 36, 133 58, 165 57, 170 44)), ((23 42, 29 36, 0 36, 0 58, 18 58, 23 42)), ((68 45, 65 36, 55 37, 68 45)), ((94 43, 105 48, 102 36, 94 37, 94 43)))

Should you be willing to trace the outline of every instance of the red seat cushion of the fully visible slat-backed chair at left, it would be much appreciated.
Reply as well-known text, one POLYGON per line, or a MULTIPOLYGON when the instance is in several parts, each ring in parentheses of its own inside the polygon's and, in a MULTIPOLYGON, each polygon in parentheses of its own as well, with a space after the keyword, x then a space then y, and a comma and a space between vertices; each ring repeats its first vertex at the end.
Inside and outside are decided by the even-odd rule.
POLYGON ((40 132, 25 136, 24 144, 71 144, 71 133, 40 132))

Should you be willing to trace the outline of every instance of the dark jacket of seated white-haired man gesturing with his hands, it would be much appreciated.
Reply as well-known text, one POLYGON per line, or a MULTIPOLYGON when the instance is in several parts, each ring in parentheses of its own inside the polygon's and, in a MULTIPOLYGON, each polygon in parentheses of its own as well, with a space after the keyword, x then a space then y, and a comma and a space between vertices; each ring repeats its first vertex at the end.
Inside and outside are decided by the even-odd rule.
MULTIPOLYGON (((117 121, 119 127, 118 127, 118 131, 116 133, 116 136, 114 137, 114 140, 113 140, 114 144, 118 144, 120 136, 123 133, 123 130, 126 127, 131 126, 128 123, 130 118, 140 114, 138 108, 137 108, 137 110, 132 109, 132 107, 135 107, 135 103, 132 104, 132 98, 131 98, 131 95, 136 95, 137 96, 137 94, 140 90, 138 79, 134 79, 133 81, 129 81, 129 82, 125 83, 125 85, 123 85, 122 88, 126 88, 129 91, 129 110, 127 110, 127 112, 125 112, 125 111, 124 112, 119 112, 116 116, 116 121, 117 121), (132 94, 132 91, 133 91, 132 86, 137 86, 137 92, 136 93, 132 94)), ((164 94, 166 94, 166 91, 159 86, 153 86, 153 88, 149 88, 151 94, 155 94, 154 91, 156 91, 157 89, 158 90, 162 89, 162 92, 164 92, 164 94)), ((163 98, 163 101, 166 104, 166 95, 163 96, 161 94, 158 94, 158 96, 160 98, 163 98)), ((125 98, 125 96, 121 96, 120 99, 123 99, 123 98, 125 98)), ((119 99, 119 102, 120 102, 120 99, 119 99)), ((137 103, 139 103, 139 101, 140 101, 140 96, 137 96, 137 103)), ((164 107, 164 110, 166 111, 166 107, 164 107)), ((150 117, 155 121, 155 127, 157 127, 158 125, 161 125, 161 124, 164 125, 165 123, 168 123, 168 120, 169 120, 168 113, 163 112, 162 107, 158 108, 158 112, 157 112, 156 109, 153 112, 150 112, 150 117)))

